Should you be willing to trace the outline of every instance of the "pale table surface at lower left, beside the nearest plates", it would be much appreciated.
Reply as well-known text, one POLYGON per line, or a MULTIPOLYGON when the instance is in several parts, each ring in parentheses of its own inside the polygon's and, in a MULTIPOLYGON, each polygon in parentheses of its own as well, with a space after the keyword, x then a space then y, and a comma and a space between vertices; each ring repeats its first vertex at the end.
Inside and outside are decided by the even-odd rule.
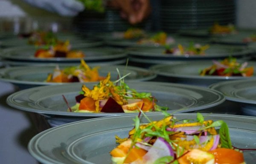
POLYGON ((26 112, 6 104, 7 96, 16 91, 11 83, 0 82, 0 163, 38 164, 27 150, 29 140, 37 131, 26 112))

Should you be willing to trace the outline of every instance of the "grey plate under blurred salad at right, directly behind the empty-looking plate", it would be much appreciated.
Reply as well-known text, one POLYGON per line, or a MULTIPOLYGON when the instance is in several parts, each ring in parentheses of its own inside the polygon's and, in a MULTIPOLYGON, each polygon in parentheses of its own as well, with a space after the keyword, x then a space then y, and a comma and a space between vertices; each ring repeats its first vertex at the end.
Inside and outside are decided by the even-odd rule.
MULTIPOLYGON (((150 69, 153 70, 159 76, 157 78, 161 78, 162 81, 185 83, 197 86, 209 86, 212 83, 217 83, 220 81, 256 79, 255 73, 252 73, 250 76, 234 74, 234 71, 232 71, 233 69, 231 69, 233 67, 231 67, 231 65, 224 66, 221 61, 223 60, 203 60, 180 62, 176 64, 157 64, 151 66, 150 69), (218 66, 216 66, 216 64, 218 66), (212 68, 211 75, 201 75, 201 72, 204 71, 204 69, 210 69, 211 66, 214 65, 215 67, 212 68), (225 72, 225 69, 227 69, 227 73, 222 75, 221 71, 225 72), (213 70, 218 71, 218 73, 215 73, 213 70), (233 75, 231 73, 233 73, 233 75)), ((246 68, 253 69, 254 72, 256 71, 256 62, 254 61, 245 62, 242 60, 237 60, 236 62, 233 62, 233 64, 238 66, 237 68, 234 68, 234 70, 240 69, 242 66, 245 67, 245 64, 247 64, 246 68)))

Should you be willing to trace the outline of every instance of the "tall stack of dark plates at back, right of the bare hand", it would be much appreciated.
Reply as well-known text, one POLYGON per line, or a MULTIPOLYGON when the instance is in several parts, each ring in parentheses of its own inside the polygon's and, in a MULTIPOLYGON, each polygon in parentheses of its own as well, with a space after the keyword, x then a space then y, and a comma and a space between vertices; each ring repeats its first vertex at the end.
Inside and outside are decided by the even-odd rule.
POLYGON ((165 31, 205 29, 235 23, 235 0, 162 0, 161 24, 165 31))

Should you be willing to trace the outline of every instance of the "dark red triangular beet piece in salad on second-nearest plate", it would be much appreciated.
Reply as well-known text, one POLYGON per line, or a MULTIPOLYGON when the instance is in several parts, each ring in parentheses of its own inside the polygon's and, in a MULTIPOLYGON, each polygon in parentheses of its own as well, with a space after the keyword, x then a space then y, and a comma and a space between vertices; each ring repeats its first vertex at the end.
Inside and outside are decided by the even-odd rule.
POLYGON ((123 113, 122 106, 119 105, 113 98, 108 98, 106 104, 102 107, 101 112, 105 113, 123 113))

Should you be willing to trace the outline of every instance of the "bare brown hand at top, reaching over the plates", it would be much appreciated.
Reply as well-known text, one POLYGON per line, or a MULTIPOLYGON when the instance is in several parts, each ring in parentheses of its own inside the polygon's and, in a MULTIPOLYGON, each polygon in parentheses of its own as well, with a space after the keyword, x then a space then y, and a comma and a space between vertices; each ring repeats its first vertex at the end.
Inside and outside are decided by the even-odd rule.
POLYGON ((142 22, 151 12, 150 0, 111 0, 108 5, 120 9, 131 24, 142 22))

